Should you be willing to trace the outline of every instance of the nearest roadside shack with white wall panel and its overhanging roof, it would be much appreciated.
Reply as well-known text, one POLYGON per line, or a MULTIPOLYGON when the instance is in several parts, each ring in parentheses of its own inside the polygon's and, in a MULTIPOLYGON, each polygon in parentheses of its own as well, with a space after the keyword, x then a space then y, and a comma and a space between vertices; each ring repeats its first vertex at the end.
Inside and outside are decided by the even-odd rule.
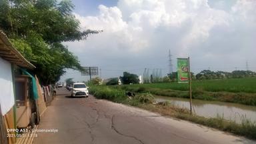
POLYGON ((34 69, 35 66, 15 49, 0 30, 0 143, 13 143, 7 139, 6 129, 15 129, 15 67, 34 69))

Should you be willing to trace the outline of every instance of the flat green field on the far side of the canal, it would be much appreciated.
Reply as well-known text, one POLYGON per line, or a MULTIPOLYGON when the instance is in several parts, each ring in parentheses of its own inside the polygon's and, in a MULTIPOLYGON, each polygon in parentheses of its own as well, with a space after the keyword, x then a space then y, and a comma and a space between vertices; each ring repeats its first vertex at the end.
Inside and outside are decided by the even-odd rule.
MULTIPOLYGON (((154 95, 189 98, 187 83, 149 83, 113 87, 135 93, 150 92, 154 95)), ((192 98, 256 105, 256 78, 193 81, 192 98)))

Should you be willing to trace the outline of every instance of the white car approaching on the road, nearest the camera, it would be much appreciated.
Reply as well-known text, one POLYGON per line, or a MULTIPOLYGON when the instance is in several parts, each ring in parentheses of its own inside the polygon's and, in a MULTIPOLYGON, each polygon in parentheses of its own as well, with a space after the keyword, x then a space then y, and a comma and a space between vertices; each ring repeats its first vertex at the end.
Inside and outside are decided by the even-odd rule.
POLYGON ((89 91, 87 89, 88 87, 85 85, 85 83, 73 83, 73 87, 71 90, 71 97, 81 97, 81 96, 85 96, 88 97, 89 96, 89 91))

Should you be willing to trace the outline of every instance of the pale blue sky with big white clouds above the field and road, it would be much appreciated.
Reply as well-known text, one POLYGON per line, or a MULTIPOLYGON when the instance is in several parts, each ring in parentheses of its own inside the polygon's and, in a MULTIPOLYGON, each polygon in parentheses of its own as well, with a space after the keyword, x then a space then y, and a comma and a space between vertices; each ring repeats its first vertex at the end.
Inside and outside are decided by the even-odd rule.
MULTIPOLYGON (((191 71, 256 71, 255 0, 74 0, 81 31, 103 30, 66 42, 81 65, 101 69, 103 79, 145 68, 173 71, 177 57, 190 57, 191 71), (246 64, 247 63, 247 64, 246 64)), ((61 81, 86 81, 67 69, 61 81)))

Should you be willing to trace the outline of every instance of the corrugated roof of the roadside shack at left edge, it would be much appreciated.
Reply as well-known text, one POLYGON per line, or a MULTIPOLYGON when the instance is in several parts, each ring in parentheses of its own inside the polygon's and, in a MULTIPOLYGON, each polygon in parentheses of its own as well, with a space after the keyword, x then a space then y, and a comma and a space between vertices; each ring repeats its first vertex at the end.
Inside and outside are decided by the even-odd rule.
POLYGON ((0 57, 9 61, 10 63, 14 63, 19 65, 20 67, 25 67, 29 69, 34 69, 35 66, 29 63, 17 49, 11 45, 10 41, 8 40, 7 36, 3 31, 0 30, 0 57))

